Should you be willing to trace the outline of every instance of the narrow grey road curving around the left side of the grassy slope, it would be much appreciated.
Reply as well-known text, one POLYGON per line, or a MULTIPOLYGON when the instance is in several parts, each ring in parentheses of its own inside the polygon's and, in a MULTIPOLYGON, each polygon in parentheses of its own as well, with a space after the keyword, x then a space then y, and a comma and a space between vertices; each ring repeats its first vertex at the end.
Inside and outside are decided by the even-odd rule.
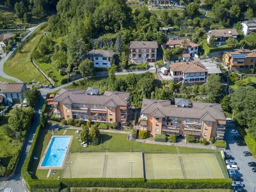
MULTIPOLYGON (((22 42, 24 42, 24 40, 26 40, 37 28, 39 28, 42 24, 44 24, 44 22, 38 24, 37 26, 35 26, 34 28, 30 28, 29 29, 29 33, 24 36, 24 38, 22 38, 22 40, 20 40, 20 44, 22 42)), ((10 52, 8 52, 8 54, 6 54, 6 56, 4 56, 1 60, 0 60, 0 76, 1 77, 5 77, 7 79, 12 79, 13 81, 16 81, 17 83, 22 83, 22 81, 20 81, 20 79, 17 79, 15 77, 12 77, 12 76, 8 76, 7 74, 4 73, 4 70, 3 70, 3 66, 4 66, 4 63, 10 58, 10 56, 12 56, 13 52, 17 49, 17 46, 13 47, 12 50, 10 52)))

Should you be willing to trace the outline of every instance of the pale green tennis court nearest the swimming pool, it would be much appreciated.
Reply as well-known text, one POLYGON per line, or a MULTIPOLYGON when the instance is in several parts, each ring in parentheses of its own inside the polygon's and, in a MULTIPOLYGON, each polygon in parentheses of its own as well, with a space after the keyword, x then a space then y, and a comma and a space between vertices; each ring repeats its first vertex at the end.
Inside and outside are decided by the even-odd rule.
POLYGON ((143 178, 139 152, 71 153, 67 162, 63 178, 143 178))

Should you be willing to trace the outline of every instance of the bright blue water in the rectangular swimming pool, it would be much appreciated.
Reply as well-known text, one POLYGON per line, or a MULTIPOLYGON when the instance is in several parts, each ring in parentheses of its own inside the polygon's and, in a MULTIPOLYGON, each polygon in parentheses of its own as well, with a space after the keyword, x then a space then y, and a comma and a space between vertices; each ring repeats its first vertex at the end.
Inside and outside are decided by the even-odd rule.
POLYGON ((53 136, 41 166, 62 166, 70 136, 53 136))

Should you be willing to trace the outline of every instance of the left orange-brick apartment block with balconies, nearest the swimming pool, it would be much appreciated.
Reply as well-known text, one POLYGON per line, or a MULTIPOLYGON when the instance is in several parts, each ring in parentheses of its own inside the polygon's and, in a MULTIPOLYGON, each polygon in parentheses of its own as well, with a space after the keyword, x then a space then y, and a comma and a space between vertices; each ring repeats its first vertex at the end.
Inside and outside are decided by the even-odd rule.
POLYGON ((63 88, 52 101, 58 102, 56 108, 65 120, 73 118, 124 125, 129 115, 129 97, 127 92, 106 91, 99 95, 92 92, 92 88, 90 91, 63 88))

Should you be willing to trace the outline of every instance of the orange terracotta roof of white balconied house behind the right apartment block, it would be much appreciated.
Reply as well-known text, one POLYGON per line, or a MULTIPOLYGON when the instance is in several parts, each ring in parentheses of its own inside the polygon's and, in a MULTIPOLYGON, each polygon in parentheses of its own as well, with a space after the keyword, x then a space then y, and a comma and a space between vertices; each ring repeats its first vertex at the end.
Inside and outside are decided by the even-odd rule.
POLYGON ((207 72, 207 69, 199 61, 188 61, 170 64, 173 72, 207 72))

